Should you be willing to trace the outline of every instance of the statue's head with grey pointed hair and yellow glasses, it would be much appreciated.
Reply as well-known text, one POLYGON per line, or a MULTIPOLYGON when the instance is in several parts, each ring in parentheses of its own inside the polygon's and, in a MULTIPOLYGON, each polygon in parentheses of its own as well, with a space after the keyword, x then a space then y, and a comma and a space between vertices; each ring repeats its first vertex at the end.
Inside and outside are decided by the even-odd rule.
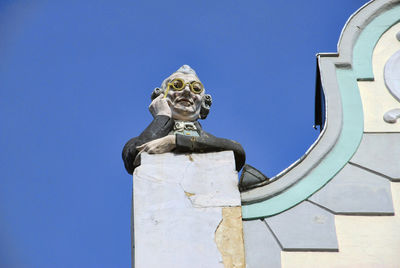
POLYGON ((166 94, 166 98, 171 100, 173 119, 184 121, 205 119, 210 111, 211 96, 205 94, 203 84, 189 65, 183 65, 165 79, 161 88, 153 91, 151 99, 160 94, 166 94))

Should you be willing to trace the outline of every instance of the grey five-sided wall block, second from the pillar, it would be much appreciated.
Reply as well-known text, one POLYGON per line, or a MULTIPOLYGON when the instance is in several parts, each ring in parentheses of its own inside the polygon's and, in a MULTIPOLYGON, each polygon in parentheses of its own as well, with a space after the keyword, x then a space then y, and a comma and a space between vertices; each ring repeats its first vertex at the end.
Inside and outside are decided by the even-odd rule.
POLYGON ((334 215, 310 202, 302 202, 266 218, 283 250, 337 251, 334 215))

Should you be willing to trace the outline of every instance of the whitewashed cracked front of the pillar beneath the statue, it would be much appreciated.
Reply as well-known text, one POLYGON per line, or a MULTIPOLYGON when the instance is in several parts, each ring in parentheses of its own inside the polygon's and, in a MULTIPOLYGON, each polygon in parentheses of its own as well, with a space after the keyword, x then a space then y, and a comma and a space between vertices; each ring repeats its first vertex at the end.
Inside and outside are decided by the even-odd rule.
POLYGON ((134 172, 136 267, 224 267, 222 208, 240 205, 232 152, 142 155, 134 172))

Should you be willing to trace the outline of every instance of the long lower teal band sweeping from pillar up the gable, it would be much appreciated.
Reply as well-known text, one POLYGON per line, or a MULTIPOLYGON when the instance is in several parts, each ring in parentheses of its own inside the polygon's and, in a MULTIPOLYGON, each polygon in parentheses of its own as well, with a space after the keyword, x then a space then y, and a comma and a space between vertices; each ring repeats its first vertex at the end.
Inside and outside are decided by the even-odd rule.
POLYGON ((337 69, 343 106, 343 129, 329 155, 304 179, 268 200, 242 207, 243 219, 257 219, 281 213, 322 188, 350 160, 361 142, 363 110, 356 77, 350 69, 337 69))

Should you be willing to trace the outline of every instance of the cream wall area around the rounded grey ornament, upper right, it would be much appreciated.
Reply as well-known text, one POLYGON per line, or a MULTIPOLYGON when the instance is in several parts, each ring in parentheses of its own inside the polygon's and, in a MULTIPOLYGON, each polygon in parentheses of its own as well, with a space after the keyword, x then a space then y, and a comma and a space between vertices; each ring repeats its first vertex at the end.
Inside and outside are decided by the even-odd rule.
POLYGON ((398 50, 400 42, 396 33, 400 32, 400 23, 392 26, 382 35, 372 56, 375 81, 360 81, 361 99, 364 109, 364 130, 366 132, 400 132, 400 122, 389 124, 383 121, 383 115, 390 109, 400 108, 400 103, 385 86, 383 70, 387 60, 398 50))

